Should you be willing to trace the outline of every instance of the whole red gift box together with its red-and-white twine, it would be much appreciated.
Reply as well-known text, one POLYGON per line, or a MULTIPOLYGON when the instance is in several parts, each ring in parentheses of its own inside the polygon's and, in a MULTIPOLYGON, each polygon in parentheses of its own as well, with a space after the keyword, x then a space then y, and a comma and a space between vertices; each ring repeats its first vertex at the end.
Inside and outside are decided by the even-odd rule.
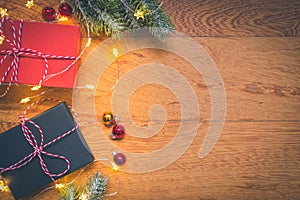
POLYGON ((80 53, 80 30, 78 26, 2 20, 0 79, 4 77, 12 62, 19 58, 17 69, 11 67, 4 82, 72 88, 76 80, 78 63, 64 73, 50 79, 46 75, 59 73, 69 67, 80 53), (13 24, 11 23, 13 22, 13 24), (22 23, 21 27, 20 24, 22 23), (15 30, 14 30, 15 29, 15 30), (15 36, 14 36, 15 34, 15 36), (20 40, 18 46, 18 40, 20 40), (9 43, 9 41, 11 43, 9 43), (28 53, 29 52, 29 53, 28 53), (14 53, 15 56, 14 57, 14 53), (44 57, 43 57, 44 56, 44 57), (48 70, 45 71, 48 64, 48 70), (16 79, 11 81, 13 73, 16 79))

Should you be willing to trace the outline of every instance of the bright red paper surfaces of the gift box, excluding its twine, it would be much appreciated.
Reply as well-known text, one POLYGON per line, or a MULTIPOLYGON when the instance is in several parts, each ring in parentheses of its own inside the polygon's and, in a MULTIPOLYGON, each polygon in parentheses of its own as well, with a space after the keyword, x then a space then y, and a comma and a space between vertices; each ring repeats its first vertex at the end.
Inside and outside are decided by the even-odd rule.
MULTIPOLYGON (((16 32, 19 31, 19 21, 14 21, 16 32)), ((4 36, 13 41, 12 28, 9 22, 4 25, 2 30, 4 36)), ((21 48, 30 48, 49 55, 78 56, 80 53, 80 30, 78 26, 61 24, 49 24, 41 22, 24 22, 21 34, 21 48)), ((12 49, 7 43, 3 42, 0 49, 12 49)), ((0 59, 4 55, 0 55, 0 59)), ((10 66, 13 56, 9 56, 0 65, 0 78, 10 66)), ((68 67, 74 60, 68 59, 48 59, 48 75, 60 72, 68 67)), ((57 75, 51 79, 44 80, 43 86, 73 88, 78 71, 78 62, 68 71, 57 75)), ((9 75, 4 82, 10 82, 12 75, 9 75)), ((20 56, 18 68, 18 83, 37 85, 45 71, 45 62, 42 58, 20 56)))

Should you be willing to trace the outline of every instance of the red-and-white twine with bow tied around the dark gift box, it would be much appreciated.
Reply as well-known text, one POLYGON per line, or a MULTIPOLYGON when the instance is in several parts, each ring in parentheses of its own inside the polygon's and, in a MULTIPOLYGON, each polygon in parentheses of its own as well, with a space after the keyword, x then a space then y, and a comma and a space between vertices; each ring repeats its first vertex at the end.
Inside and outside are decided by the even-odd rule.
MULTIPOLYGON (((62 156, 62 155, 57 155, 57 154, 53 154, 53 153, 49 153, 47 151, 45 151, 44 149, 47 147, 47 146, 50 146, 52 144, 54 144, 55 142, 63 139, 64 137, 70 135, 71 133, 73 133, 77 128, 79 128, 79 119, 78 119, 78 116, 77 114, 74 112, 74 110, 72 110, 71 107, 69 107, 73 113, 73 115, 76 117, 77 119, 77 125, 75 127, 73 127, 71 130, 65 132, 64 134, 60 135, 59 137, 57 138, 54 138, 53 140, 51 140, 50 142, 44 144, 44 133, 43 133, 43 130, 41 129, 41 127, 39 125, 37 125, 35 122, 33 122, 30 118, 26 118, 25 115, 26 113, 28 112, 28 110, 35 104, 37 103, 40 103, 40 102, 44 102, 44 101, 53 101, 53 99, 43 99, 43 100, 39 100, 39 101, 36 101, 36 102, 33 102, 31 105, 29 105, 27 107, 27 109, 24 111, 24 114, 21 114, 19 115, 19 119, 21 121, 21 127, 22 127, 22 133, 25 137, 25 139, 27 140, 27 142, 30 144, 30 146, 33 148, 33 152, 30 153, 29 155, 25 156, 24 158, 22 158, 21 160, 19 160, 18 162, 10 165, 9 167, 0 167, 0 174, 2 174, 3 172, 5 171, 12 171, 12 170, 15 170, 15 169, 18 169, 18 168, 21 168, 21 167, 24 167, 25 165, 27 165, 28 163, 30 163, 35 157, 38 157, 39 160, 40 160, 40 165, 41 165, 41 168, 43 170, 43 172, 45 174, 47 174, 50 179, 52 181, 55 181, 55 179, 53 177, 60 177, 64 174, 66 174, 69 169, 70 169, 70 161, 62 156), (27 123, 30 123, 32 124, 39 132, 40 134, 40 137, 41 137, 41 141, 40 143, 38 144, 37 140, 36 140, 36 137, 34 136, 34 134, 32 133, 32 131, 28 128, 28 126, 26 125, 26 122, 27 123), (46 155, 46 156, 50 156, 50 157, 53 157, 53 158, 57 158, 57 159, 62 159, 66 162, 67 164, 67 167, 66 169, 61 172, 61 173, 51 173, 49 171, 49 169, 47 168, 47 165, 42 157, 42 155, 46 155)), ((59 101, 60 102, 60 101, 59 101)))

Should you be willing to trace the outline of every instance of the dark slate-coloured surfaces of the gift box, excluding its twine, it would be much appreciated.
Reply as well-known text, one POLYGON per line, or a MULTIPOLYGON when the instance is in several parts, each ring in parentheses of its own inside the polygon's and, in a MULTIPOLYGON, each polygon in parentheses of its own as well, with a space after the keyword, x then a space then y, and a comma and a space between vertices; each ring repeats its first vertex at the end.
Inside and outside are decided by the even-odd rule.
MULTIPOLYGON (((76 126, 73 116, 64 102, 59 103, 31 120, 42 129, 44 144, 76 126)), ((36 137, 38 144, 40 144, 41 136, 38 130, 29 122, 26 122, 26 125, 36 137)), ((33 147, 29 145, 22 133, 21 125, 0 134, 0 168, 9 167, 33 151, 33 147)), ((70 135, 45 147, 44 151, 65 156, 70 161, 70 169, 65 175, 94 160, 79 128, 70 135)), ((42 154, 42 158, 50 173, 61 173, 67 168, 66 162, 62 159, 53 158, 45 154, 42 154)), ((37 192, 52 182, 51 178, 42 170, 38 156, 34 157, 24 167, 3 172, 2 177, 7 181, 16 199, 37 192)), ((56 180, 60 177, 53 178, 56 180)))

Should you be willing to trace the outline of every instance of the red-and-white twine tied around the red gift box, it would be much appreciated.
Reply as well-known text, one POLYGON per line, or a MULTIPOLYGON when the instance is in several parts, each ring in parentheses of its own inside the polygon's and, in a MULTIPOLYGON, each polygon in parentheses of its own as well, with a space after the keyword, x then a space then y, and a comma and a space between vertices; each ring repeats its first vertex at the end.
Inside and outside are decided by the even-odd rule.
POLYGON ((13 56, 12 62, 10 63, 9 67, 7 68, 3 77, 0 80, 0 85, 1 85, 4 82, 4 80, 6 79, 6 77, 8 76, 9 72, 12 70, 12 76, 10 78, 9 85, 7 86, 5 92, 0 95, 0 97, 5 96, 7 94, 12 82, 16 82, 16 83, 18 82, 18 68, 19 68, 19 62, 20 62, 21 56, 41 58, 44 60, 45 70, 44 70, 44 74, 42 75, 40 81, 38 82, 38 85, 42 84, 42 82, 45 80, 45 78, 48 74, 48 68, 49 68, 48 59, 68 59, 68 60, 77 59, 77 57, 75 57, 75 56, 49 55, 49 54, 44 54, 35 49, 21 47, 23 22, 24 22, 24 20, 21 20, 18 23, 18 31, 17 31, 15 22, 13 20, 8 19, 8 18, 2 18, 2 20, 0 21, 0 37, 2 38, 0 45, 1 45, 1 43, 3 43, 5 41, 11 47, 11 49, 3 49, 0 51, 0 54, 4 55, 3 58, 1 58, 1 60, 0 60, 0 66, 3 64, 3 62, 9 56, 13 56), (9 40, 3 33, 2 29, 4 29, 5 22, 9 22, 11 24, 12 41, 9 40))

